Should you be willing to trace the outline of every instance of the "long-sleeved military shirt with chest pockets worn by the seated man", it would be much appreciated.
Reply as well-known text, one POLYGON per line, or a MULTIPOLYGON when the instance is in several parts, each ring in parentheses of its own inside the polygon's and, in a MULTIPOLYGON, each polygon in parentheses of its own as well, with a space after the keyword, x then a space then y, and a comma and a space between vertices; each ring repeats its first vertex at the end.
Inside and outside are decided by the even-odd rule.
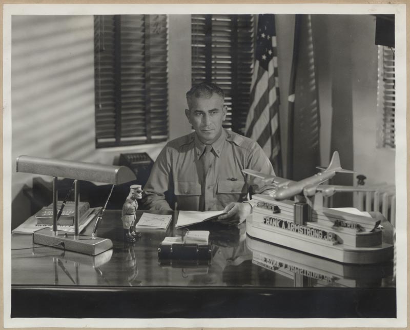
POLYGON ((271 162, 255 141, 223 129, 212 144, 205 180, 200 161, 204 149, 195 132, 167 143, 144 187, 149 209, 222 210, 231 202, 247 200, 250 186, 254 193, 272 191, 272 186, 241 171, 248 168, 274 175, 271 162))

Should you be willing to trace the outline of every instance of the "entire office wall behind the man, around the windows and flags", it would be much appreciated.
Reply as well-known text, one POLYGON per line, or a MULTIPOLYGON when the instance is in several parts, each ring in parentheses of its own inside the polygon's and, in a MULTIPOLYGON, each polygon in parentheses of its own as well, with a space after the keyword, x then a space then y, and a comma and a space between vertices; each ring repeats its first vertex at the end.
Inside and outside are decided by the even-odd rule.
MULTIPOLYGON (((376 148, 377 47, 374 45, 374 17, 314 15, 312 25, 315 64, 319 73, 322 165, 327 165, 330 159, 333 107, 338 105, 339 111, 343 111, 341 102, 350 102, 353 117, 351 126, 345 132, 350 132, 354 147, 344 146, 351 155, 347 164, 351 161, 357 173, 365 174, 368 184, 394 183, 394 150, 376 148), (337 69, 339 62, 344 65, 347 63, 348 66, 339 66, 337 69), (346 86, 340 83, 336 74, 343 70, 348 70, 350 79, 345 80, 346 86), (346 95, 350 99, 344 99, 346 95)), ((285 167, 294 15, 277 15, 276 29, 280 129, 285 167)), ((189 31, 189 15, 170 16, 171 139, 191 130, 183 117, 185 92, 191 85, 189 31)), ((12 18, 11 162, 14 224, 30 215, 23 187, 32 185, 33 176, 15 173, 15 159, 20 154, 113 164, 121 152, 146 151, 155 159, 163 146, 95 149, 93 44, 92 16, 30 15, 12 18)), ((340 113, 343 115, 343 112, 340 113)), ((334 123, 338 129, 341 124, 343 121, 334 123)), ((345 159, 341 161, 342 165, 346 164, 345 159)))

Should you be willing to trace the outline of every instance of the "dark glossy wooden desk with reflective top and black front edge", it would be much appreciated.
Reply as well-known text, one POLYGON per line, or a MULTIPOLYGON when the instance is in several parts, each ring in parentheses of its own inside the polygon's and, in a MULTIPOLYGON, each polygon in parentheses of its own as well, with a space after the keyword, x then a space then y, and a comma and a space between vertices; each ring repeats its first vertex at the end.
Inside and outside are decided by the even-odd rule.
MULTIPOLYGON (((165 265, 158 260, 157 248, 165 236, 178 234, 177 212, 172 215, 167 230, 142 231, 132 246, 122 241, 120 211, 107 210, 98 236, 110 238, 114 248, 96 257, 49 247, 11 251, 11 316, 396 316, 393 263, 318 263, 316 257, 251 240, 244 224, 199 228, 211 231, 210 265, 176 261, 165 265), (250 247, 258 249, 257 260, 250 247)), ((12 248, 38 246, 30 235, 13 234, 11 241, 12 248)))

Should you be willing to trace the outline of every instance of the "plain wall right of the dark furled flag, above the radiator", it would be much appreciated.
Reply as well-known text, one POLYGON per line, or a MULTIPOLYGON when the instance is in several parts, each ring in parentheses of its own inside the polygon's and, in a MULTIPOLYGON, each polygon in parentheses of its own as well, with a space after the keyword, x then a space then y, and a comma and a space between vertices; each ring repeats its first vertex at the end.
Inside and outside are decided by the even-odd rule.
MULTIPOLYGON (((354 177, 364 174, 367 185, 395 182, 395 150, 376 147, 375 24, 371 15, 312 16, 322 165, 329 163, 332 146, 339 148, 341 165, 353 169, 354 177)), ((345 184, 356 181, 344 178, 345 184)))

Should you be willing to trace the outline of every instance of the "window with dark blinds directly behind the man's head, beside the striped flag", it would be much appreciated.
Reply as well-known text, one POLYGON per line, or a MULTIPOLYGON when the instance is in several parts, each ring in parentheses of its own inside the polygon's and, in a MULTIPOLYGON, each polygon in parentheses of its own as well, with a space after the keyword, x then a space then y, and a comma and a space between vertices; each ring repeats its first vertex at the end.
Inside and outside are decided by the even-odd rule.
POLYGON ((212 81, 226 94, 223 127, 244 134, 254 62, 253 15, 192 15, 192 83, 212 81))

